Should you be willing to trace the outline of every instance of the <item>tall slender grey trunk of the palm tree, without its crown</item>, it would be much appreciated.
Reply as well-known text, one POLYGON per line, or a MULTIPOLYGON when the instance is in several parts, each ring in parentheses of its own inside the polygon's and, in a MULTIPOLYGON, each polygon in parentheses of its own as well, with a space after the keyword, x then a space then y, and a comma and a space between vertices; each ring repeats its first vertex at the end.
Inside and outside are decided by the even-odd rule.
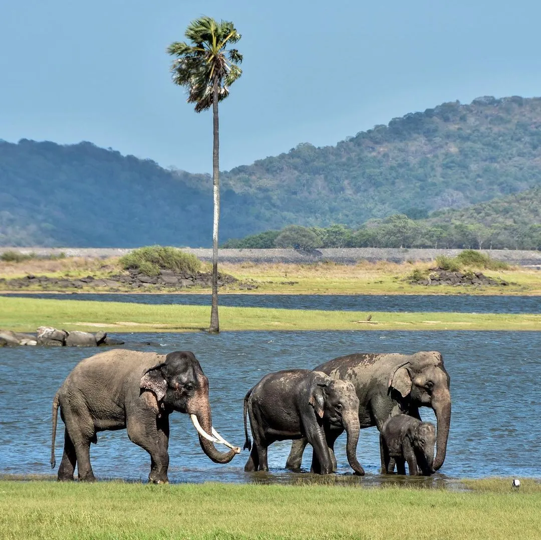
POLYGON ((218 129, 218 81, 214 80, 212 88, 213 114, 213 149, 212 149, 212 183, 214 196, 214 219, 212 227, 212 306, 210 308, 210 334, 220 331, 218 319, 218 224, 220 222, 220 137, 218 129))

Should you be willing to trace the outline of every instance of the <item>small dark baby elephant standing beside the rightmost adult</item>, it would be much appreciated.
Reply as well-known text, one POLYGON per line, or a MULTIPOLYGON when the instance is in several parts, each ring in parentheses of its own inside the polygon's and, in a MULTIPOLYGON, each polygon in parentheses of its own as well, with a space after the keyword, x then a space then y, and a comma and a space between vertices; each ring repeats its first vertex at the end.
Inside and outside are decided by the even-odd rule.
POLYGON ((406 474, 407 461, 410 475, 430 476, 434 473, 434 444, 436 427, 421 422, 407 414, 397 414, 388 419, 379 434, 381 448, 381 472, 390 473, 389 462, 394 458, 398 474, 406 474))

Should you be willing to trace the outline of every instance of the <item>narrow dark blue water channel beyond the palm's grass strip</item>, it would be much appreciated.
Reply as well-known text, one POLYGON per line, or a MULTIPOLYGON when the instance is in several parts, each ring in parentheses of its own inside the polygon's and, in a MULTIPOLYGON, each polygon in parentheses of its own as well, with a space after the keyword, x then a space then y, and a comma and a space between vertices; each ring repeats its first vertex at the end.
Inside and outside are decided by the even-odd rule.
MULTIPOLYGON (((210 305, 208 294, 15 294, 24 298, 96 300, 137 304, 210 305)), ((423 295, 254 295, 222 294, 233 307, 321 309, 325 311, 454 311, 457 313, 541 313, 536 296, 423 295)))

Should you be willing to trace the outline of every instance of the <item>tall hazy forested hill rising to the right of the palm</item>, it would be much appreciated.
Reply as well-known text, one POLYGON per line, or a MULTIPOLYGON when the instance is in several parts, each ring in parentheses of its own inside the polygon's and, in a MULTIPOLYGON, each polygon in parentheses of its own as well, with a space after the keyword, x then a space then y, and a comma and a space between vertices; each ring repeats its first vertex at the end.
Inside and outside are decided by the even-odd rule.
POLYGON ((479 203, 541 185, 541 98, 443 103, 337 146, 301 144, 236 167, 222 182, 259 201, 267 229, 281 228, 285 215, 355 227, 479 203))

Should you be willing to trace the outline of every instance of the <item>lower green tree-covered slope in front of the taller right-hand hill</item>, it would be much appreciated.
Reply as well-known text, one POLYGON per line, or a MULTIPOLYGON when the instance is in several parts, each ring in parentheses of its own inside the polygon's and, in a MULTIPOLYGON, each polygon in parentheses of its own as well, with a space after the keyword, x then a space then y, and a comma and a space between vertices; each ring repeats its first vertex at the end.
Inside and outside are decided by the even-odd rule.
POLYGON ((289 225, 228 240, 224 248, 465 248, 541 249, 541 188, 463 210, 436 211, 428 219, 392 214, 358 229, 345 225, 289 225))

